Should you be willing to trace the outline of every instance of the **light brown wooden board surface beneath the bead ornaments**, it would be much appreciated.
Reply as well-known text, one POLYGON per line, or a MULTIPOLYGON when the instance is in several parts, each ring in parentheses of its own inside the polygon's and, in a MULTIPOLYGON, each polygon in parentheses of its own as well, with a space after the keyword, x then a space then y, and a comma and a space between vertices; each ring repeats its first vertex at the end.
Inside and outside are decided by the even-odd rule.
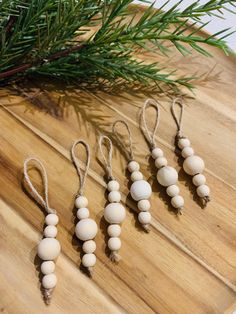
MULTIPOLYGON (((157 134, 169 164, 179 171, 184 214, 176 217, 150 168, 149 150, 138 127, 146 95, 138 91, 108 94, 81 91, 53 82, 33 82, 24 95, 7 89, 0 97, 0 311, 2 313, 227 313, 236 310, 236 62, 211 49, 215 58, 175 54, 170 61, 183 73, 206 73, 188 98, 184 133, 206 163, 212 201, 202 209, 189 177, 174 153, 176 127, 170 99, 162 102, 157 134), (38 91, 40 88, 40 92, 38 91), (27 95, 36 93, 33 100, 27 95), (111 134, 111 123, 124 119, 131 127, 135 155, 153 187, 151 232, 137 225, 135 203, 128 195, 126 161, 115 147, 114 175, 121 184, 127 218, 122 225, 122 260, 106 255, 104 170, 98 162, 100 133, 111 134), (92 151, 86 195, 99 226, 97 264, 92 279, 80 269, 80 244, 74 237, 74 196, 78 177, 69 150, 83 138, 92 151), (28 156, 45 164, 49 200, 60 217, 62 254, 58 285, 46 307, 39 283, 37 243, 44 213, 22 189, 22 166, 28 156)), ((146 55, 147 58, 153 56, 146 55)), ((151 110, 148 119, 152 121, 151 110)), ((116 145, 116 143, 114 143, 116 145)), ((81 154, 84 158, 84 154, 81 154)), ((83 159, 84 160, 84 159, 83 159)), ((35 173, 35 182, 40 184, 35 173)), ((39 186, 39 185, 38 185, 39 186)))

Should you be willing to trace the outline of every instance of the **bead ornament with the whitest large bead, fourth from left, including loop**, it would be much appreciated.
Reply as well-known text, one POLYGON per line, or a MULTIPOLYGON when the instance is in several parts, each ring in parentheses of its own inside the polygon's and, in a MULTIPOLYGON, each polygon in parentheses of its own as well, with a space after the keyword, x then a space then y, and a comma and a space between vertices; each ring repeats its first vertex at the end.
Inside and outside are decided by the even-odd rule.
POLYGON ((125 153, 128 160, 128 171, 130 172, 130 178, 132 180, 132 185, 130 187, 130 195, 134 201, 137 202, 137 207, 139 210, 138 221, 146 232, 150 231, 151 214, 149 198, 152 194, 151 185, 144 179, 142 172, 140 171, 140 165, 134 160, 133 147, 132 147, 132 137, 129 125, 124 120, 117 120, 114 122, 112 131, 116 136, 116 139, 125 153), (125 145, 124 141, 121 139, 116 131, 118 124, 125 126, 128 132, 129 145, 125 145))

